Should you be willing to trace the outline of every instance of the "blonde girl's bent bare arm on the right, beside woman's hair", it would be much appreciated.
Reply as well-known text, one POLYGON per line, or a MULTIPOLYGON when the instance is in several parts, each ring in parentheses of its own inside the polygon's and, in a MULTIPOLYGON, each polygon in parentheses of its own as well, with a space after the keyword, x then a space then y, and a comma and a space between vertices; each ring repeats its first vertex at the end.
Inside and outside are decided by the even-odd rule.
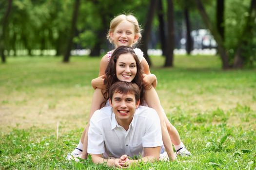
POLYGON ((157 77, 155 76, 155 74, 150 73, 149 65, 145 58, 142 59, 141 66, 143 68, 143 72, 145 73, 143 77, 143 83, 146 86, 146 88, 151 85, 153 85, 153 87, 156 88, 158 84, 157 77))

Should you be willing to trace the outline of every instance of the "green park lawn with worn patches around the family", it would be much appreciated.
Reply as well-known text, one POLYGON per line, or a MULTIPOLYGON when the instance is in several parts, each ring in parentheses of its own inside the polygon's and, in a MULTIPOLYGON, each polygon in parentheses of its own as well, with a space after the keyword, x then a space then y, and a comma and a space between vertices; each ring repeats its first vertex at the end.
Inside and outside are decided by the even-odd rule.
MULTIPOLYGON (((193 156, 136 169, 255 170, 256 69, 223 71, 217 56, 175 56, 174 68, 151 59, 162 106, 193 156)), ((85 127, 99 61, 9 57, 0 64, 0 169, 109 169, 65 160, 85 127)))

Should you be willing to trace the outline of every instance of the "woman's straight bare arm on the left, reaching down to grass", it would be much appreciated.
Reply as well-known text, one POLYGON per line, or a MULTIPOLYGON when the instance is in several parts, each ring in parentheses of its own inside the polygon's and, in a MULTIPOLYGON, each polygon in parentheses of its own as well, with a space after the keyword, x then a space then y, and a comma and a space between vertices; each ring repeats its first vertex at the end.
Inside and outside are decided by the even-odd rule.
MULTIPOLYGON (((91 105, 91 109, 90 109, 90 116, 89 116, 89 120, 91 119, 91 117, 93 116, 94 112, 98 109, 100 109, 100 105, 102 102, 104 102, 104 97, 101 93, 101 89, 97 88, 94 91, 93 94, 93 99, 92 99, 92 105, 91 105)), ((89 122, 89 121, 88 121, 89 122)), ((82 152, 82 159, 87 159, 87 145, 88 145, 88 129, 89 129, 89 123, 85 129, 85 135, 83 138, 83 152, 82 152)))

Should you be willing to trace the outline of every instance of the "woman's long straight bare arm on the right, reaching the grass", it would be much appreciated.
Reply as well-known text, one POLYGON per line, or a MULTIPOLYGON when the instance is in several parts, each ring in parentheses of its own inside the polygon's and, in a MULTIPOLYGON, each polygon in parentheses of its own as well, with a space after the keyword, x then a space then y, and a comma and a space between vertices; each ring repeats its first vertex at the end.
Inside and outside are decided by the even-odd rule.
POLYGON ((162 106, 160 104, 158 94, 157 94, 155 88, 145 89, 145 101, 149 107, 151 107, 157 111, 159 119, 160 119, 160 124, 161 124, 164 147, 166 149, 169 159, 175 160, 176 156, 173 152, 172 141, 171 141, 171 138, 170 138, 168 130, 167 130, 167 126, 164 121, 166 115, 162 109, 162 106))

